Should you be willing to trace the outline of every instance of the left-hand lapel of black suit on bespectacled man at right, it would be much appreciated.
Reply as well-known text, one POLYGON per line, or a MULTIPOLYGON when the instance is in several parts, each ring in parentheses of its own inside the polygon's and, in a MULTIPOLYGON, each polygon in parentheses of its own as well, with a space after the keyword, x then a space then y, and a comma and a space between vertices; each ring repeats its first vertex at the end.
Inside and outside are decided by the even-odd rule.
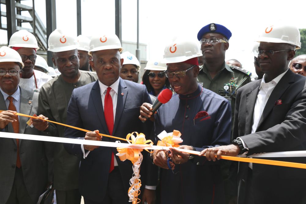
POLYGON ((245 134, 250 134, 252 131, 254 107, 257 99, 261 80, 256 81, 249 93, 246 94, 245 100, 245 134))

